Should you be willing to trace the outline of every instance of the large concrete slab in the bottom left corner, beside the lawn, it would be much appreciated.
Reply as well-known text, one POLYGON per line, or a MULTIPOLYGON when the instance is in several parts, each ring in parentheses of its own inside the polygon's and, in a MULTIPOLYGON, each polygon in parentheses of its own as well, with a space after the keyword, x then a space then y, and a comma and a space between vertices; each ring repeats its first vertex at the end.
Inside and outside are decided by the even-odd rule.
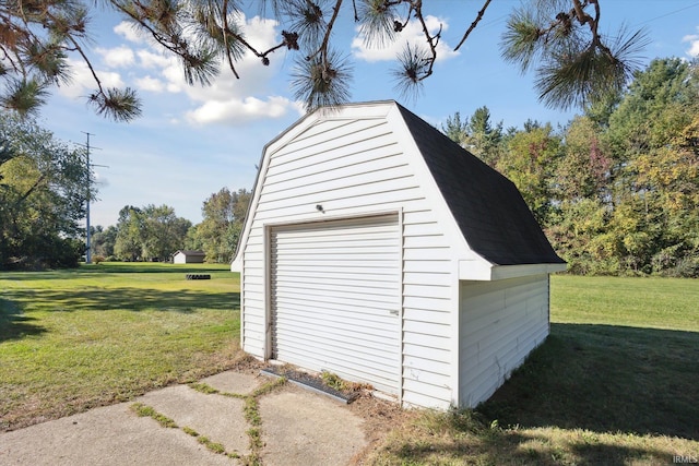
POLYGON ((131 403, 0 434, 0 464, 32 466, 232 465, 180 429, 133 414, 131 403))

